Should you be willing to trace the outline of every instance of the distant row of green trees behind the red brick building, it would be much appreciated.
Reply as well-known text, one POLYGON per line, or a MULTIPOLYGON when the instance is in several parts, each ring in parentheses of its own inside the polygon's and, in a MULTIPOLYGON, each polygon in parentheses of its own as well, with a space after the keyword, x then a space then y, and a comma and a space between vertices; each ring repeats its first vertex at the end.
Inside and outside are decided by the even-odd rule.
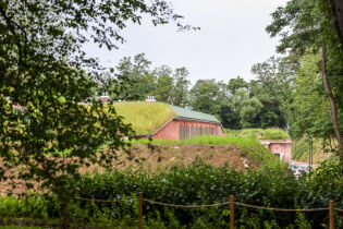
MULTIPOLYGON (((269 86, 260 80, 246 82, 237 76, 225 83, 206 79, 192 86, 186 68, 152 69, 145 53, 122 58, 114 72, 119 79, 127 81, 123 93, 132 100, 155 96, 157 101, 211 113, 229 129, 286 128, 278 98, 269 96, 269 86)), ((271 79, 265 80, 273 84, 271 79)), ((118 94, 110 96, 117 99, 118 94)))

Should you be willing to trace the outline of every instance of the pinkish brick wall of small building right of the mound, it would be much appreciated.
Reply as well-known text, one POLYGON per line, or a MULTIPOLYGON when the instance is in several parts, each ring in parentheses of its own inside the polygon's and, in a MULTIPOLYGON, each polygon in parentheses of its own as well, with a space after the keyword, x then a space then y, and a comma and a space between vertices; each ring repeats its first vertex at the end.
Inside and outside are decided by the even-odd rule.
POLYGON ((260 140, 260 143, 268 149, 270 149, 280 160, 286 162, 292 159, 292 140, 260 140))

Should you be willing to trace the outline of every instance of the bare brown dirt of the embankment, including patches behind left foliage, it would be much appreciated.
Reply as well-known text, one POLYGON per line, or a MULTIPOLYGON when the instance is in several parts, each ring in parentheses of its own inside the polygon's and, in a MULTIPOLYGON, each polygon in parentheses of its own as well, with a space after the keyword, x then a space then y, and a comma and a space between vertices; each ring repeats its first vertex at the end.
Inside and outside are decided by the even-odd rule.
MULTIPOLYGON (((158 145, 151 150, 147 145, 133 145, 131 148, 132 158, 124 152, 118 152, 118 159, 113 161, 113 169, 125 170, 144 169, 155 171, 168 169, 172 166, 188 166, 196 161, 203 161, 213 167, 225 166, 229 169, 245 170, 258 168, 259 164, 241 156, 242 149, 235 145, 158 145)), ((82 168, 81 172, 101 172, 102 168, 93 165, 89 168, 82 168)), ((12 172, 16 173, 14 169, 12 172)), ((0 182, 0 196, 9 192, 20 195, 21 193, 41 192, 39 183, 34 189, 27 189, 25 181, 14 179, 16 186, 12 188, 12 181, 0 182)))

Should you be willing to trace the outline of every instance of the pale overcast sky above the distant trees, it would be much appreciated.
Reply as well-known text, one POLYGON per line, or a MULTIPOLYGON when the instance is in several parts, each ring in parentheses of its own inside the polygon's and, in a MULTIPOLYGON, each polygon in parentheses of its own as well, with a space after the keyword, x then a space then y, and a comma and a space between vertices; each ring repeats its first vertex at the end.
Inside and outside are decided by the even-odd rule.
POLYGON ((126 43, 119 50, 107 51, 88 45, 87 52, 107 67, 123 57, 145 52, 152 67, 185 67, 194 84, 200 79, 223 80, 236 76, 249 81, 252 65, 274 53, 278 39, 265 32, 270 13, 285 0, 171 0, 184 22, 201 29, 177 32, 175 25, 128 26, 126 43))

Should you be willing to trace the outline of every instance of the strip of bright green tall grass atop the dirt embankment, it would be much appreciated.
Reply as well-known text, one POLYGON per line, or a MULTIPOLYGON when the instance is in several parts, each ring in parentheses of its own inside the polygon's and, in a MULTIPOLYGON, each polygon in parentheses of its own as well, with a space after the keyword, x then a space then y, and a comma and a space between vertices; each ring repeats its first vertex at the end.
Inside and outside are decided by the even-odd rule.
POLYGON ((135 140, 132 141, 133 144, 159 144, 159 145, 228 145, 233 144, 236 146, 254 146, 258 145, 259 142, 257 138, 249 136, 236 136, 234 134, 228 134, 225 136, 216 136, 216 135, 200 135, 181 141, 171 141, 171 140, 135 140))

